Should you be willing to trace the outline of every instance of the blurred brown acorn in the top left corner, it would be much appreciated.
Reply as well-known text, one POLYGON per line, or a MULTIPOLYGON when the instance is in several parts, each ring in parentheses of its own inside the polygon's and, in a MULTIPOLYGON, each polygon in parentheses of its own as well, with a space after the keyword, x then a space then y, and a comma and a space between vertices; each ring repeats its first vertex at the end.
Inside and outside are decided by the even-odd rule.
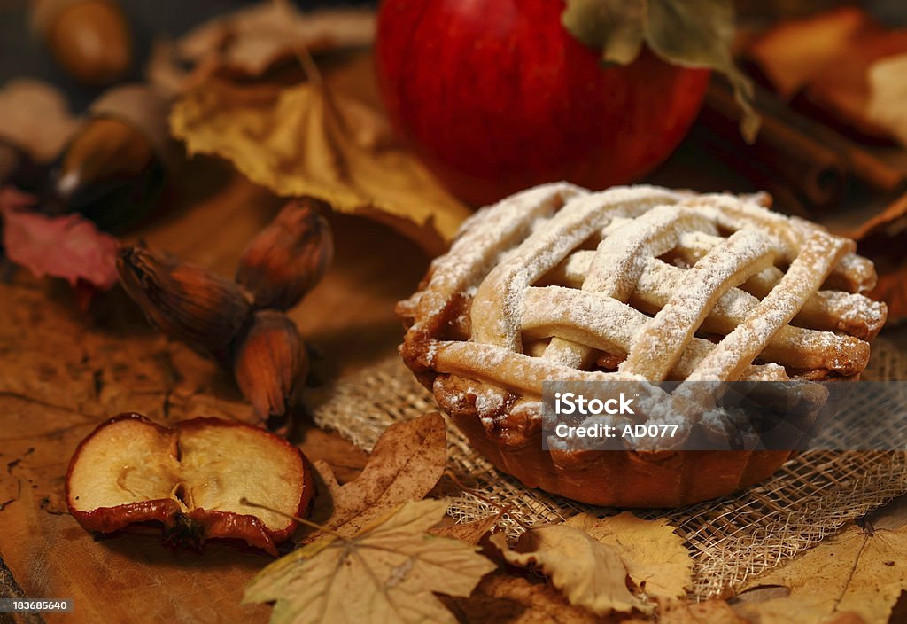
POLYGON ((115 83, 132 65, 132 33, 115 0, 35 0, 33 22, 57 62, 82 83, 115 83))

